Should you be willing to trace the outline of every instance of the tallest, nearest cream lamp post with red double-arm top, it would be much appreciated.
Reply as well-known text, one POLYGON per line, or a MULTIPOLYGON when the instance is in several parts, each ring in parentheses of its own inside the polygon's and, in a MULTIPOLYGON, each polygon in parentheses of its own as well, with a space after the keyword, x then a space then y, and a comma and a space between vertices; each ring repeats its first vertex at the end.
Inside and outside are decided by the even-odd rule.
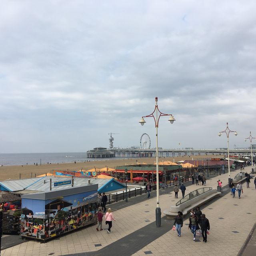
POLYGON ((161 226, 161 209, 160 209, 160 205, 159 205, 159 171, 158 171, 158 122, 159 122, 159 118, 160 116, 170 116, 170 118, 168 119, 168 121, 170 121, 171 124, 173 124, 173 122, 175 121, 174 116, 172 116, 172 114, 163 114, 159 109, 158 109, 158 105, 157 105, 157 100, 158 98, 155 98, 156 100, 156 105, 155 105, 155 109, 152 112, 152 114, 148 115, 148 116, 142 116, 142 118, 140 119, 140 124, 144 125, 146 123, 146 121, 144 120, 144 117, 153 117, 154 121, 155 121, 155 126, 156 126, 156 226, 160 227, 161 226), (155 113, 156 112, 156 113, 155 113), (155 113, 155 116, 154 116, 155 113), (160 113, 160 115, 158 116, 158 113, 160 113))

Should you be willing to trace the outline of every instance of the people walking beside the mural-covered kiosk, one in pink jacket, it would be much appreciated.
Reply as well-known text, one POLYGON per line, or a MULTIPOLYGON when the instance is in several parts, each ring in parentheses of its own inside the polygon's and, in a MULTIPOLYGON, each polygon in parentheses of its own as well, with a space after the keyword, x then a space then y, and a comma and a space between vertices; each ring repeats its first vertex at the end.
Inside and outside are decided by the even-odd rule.
MULTIPOLYGON (((100 231, 103 230, 102 229, 102 220, 104 216, 103 213, 106 212, 106 203, 108 201, 108 197, 106 196, 106 194, 104 192, 102 194, 101 193, 98 194, 98 208, 101 206, 101 209, 98 209, 98 226, 96 228, 97 231, 99 231, 99 228, 100 228, 100 231)), ((116 219, 113 216, 111 208, 108 208, 108 211, 105 214, 105 220, 106 220, 105 224, 108 225, 108 229, 106 230, 106 232, 109 234, 111 233, 112 220, 116 221, 116 219)))

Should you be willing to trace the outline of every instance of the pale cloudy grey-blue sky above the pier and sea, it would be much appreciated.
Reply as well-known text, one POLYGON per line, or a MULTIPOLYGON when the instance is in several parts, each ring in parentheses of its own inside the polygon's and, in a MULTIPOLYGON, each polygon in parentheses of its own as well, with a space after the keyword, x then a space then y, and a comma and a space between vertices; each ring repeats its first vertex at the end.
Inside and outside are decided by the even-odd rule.
MULTIPOLYGON (((0 153, 249 147, 256 137, 254 0, 4 0, 0 153), (236 146, 234 146, 236 145, 236 146)), ((256 140, 254 140, 256 144, 256 140)))

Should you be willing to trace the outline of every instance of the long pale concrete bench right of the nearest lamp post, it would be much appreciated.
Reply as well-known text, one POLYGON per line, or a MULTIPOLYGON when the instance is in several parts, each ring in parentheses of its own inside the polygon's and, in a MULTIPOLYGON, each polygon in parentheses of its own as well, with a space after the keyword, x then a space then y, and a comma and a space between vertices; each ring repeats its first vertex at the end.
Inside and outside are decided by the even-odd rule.
MULTIPOLYGON (((192 192, 191 192, 192 193, 192 192)), ((184 203, 179 204, 178 206, 173 205, 168 210, 164 210, 164 214, 167 218, 173 218, 178 214, 178 211, 182 212, 183 215, 186 215, 192 208, 200 206, 216 196, 220 196, 221 192, 217 192, 216 189, 212 189, 204 192, 194 198, 191 198, 184 203)))

